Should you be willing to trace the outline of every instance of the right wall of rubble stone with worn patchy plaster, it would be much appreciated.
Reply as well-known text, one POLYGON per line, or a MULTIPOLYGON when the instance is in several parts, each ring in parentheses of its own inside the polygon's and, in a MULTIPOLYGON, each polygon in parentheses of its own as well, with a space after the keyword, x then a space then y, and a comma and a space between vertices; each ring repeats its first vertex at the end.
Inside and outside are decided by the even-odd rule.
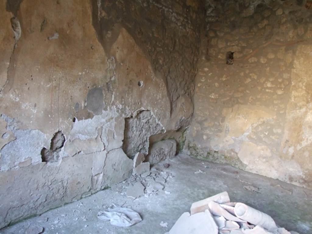
POLYGON ((189 153, 312 188, 312 2, 206 1, 206 22, 189 153))

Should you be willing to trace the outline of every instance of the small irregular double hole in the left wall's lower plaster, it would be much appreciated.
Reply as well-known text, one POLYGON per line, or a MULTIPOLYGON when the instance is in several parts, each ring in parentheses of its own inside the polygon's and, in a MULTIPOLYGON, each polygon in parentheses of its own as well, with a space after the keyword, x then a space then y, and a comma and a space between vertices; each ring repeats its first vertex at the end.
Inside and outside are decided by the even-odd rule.
POLYGON ((60 158, 59 153, 61 152, 62 147, 65 143, 64 134, 61 131, 58 131, 51 139, 50 149, 43 148, 41 150, 41 159, 42 162, 53 163, 57 162, 60 158))

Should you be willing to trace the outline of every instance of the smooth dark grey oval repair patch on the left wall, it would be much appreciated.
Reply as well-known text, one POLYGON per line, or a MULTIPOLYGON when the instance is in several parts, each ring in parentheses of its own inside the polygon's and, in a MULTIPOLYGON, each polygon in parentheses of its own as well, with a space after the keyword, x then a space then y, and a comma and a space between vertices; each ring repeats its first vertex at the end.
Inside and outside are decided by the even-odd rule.
POLYGON ((104 99, 102 88, 90 89, 87 95, 86 108, 93 115, 102 114, 104 109, 104 99))

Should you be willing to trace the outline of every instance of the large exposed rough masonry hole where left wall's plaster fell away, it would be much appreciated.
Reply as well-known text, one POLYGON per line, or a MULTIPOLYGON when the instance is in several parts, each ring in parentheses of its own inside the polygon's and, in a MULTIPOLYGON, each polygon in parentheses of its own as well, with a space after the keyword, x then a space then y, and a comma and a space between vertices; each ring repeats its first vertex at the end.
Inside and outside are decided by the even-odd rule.
POLYGON ((163 126, 149 110, 142 110, 134 117, 126 118, 124 126, 124 152, 130 158, 134 158, 138 152, 147 154, 149 137, 162 131, 163 126))

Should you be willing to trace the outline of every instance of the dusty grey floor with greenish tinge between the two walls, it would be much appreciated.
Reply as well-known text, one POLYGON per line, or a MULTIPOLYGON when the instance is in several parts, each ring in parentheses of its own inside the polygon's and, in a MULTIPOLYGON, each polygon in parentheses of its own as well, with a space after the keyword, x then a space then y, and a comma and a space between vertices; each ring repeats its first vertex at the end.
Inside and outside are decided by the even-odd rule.
MULTIPOLYGON (((165 233, 192 202, 227 191, 231 201, 245 202, 270 214, 275 222, 300 234, 312 231, 312 191, 228 165, 212 164, 185 155, 152 168, 152 175, 165 177, 164 189, 132 200, 126 189, 134 178, 102 190, 90 197, 48 211, 0 230, 4 233, 25 233, 29 227, 43 227, 43 233, 165 233), (169 163, 169 168, 164 168, 169 163), (97 213, 112 203, 139 212, 143 221, 121 228, 97 218, 97 213), (161 222, 167 227, 161 227, 161 222)), ((155 178, 155 177, 154 177, 155 178)), ((149 178, 145 178, 147 180, 149 178)), ((144 184, 144 182, 143 182, 144 184)))

